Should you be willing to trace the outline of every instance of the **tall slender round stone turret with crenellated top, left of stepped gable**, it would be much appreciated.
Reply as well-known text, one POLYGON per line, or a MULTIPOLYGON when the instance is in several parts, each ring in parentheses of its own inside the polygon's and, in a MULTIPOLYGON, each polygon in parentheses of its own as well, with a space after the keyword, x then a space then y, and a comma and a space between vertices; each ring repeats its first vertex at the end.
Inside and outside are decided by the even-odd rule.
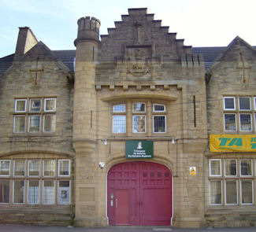
POLYGON ((77 24, 73 140, 76 153, 84 155, 90 154, 96 144, 95 61, 98 59, 100 21, 82 17, 77 24))

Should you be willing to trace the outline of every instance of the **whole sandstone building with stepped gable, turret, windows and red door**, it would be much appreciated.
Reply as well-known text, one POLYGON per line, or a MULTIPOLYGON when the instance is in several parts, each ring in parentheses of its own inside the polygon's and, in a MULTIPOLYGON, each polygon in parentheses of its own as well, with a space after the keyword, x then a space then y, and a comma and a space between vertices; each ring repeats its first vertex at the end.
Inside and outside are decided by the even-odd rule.
POLYGON ((20 28, 1 58, 0 221, 254 226, 254 47, 184 46, 147 9, 99 28, 66 51, 20 28))

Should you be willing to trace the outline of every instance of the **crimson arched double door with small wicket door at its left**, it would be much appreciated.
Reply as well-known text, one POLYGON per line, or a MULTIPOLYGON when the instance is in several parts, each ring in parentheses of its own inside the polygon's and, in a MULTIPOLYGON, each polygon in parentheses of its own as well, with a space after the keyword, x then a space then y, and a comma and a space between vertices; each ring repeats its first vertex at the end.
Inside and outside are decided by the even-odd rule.
POLYGON ((117 164, 109 170, 107 191, 110 225, 170 225, 172 175, 164 165, 117 164))

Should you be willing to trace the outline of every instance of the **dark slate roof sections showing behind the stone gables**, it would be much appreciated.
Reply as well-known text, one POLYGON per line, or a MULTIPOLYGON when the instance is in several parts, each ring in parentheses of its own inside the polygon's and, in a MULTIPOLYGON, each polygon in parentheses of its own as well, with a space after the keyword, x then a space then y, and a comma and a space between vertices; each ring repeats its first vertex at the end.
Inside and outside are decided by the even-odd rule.
MULTIPOLYGON (((213 64, 213 61, 221 55, 226 48, 226 46, 192 47, 192 53, 202 53, 207 70, 213 64)), ((254 46, 254 48, 256 48, 256 46, 254 46)), ((57 55, 57 57, 70 69, 71 72, 74 72, 76 50, 53 50, 52 52, 57 55)), ((0 74, 5 72, 12 65, 13 57, 14 54, 0 58, 0 74)))

